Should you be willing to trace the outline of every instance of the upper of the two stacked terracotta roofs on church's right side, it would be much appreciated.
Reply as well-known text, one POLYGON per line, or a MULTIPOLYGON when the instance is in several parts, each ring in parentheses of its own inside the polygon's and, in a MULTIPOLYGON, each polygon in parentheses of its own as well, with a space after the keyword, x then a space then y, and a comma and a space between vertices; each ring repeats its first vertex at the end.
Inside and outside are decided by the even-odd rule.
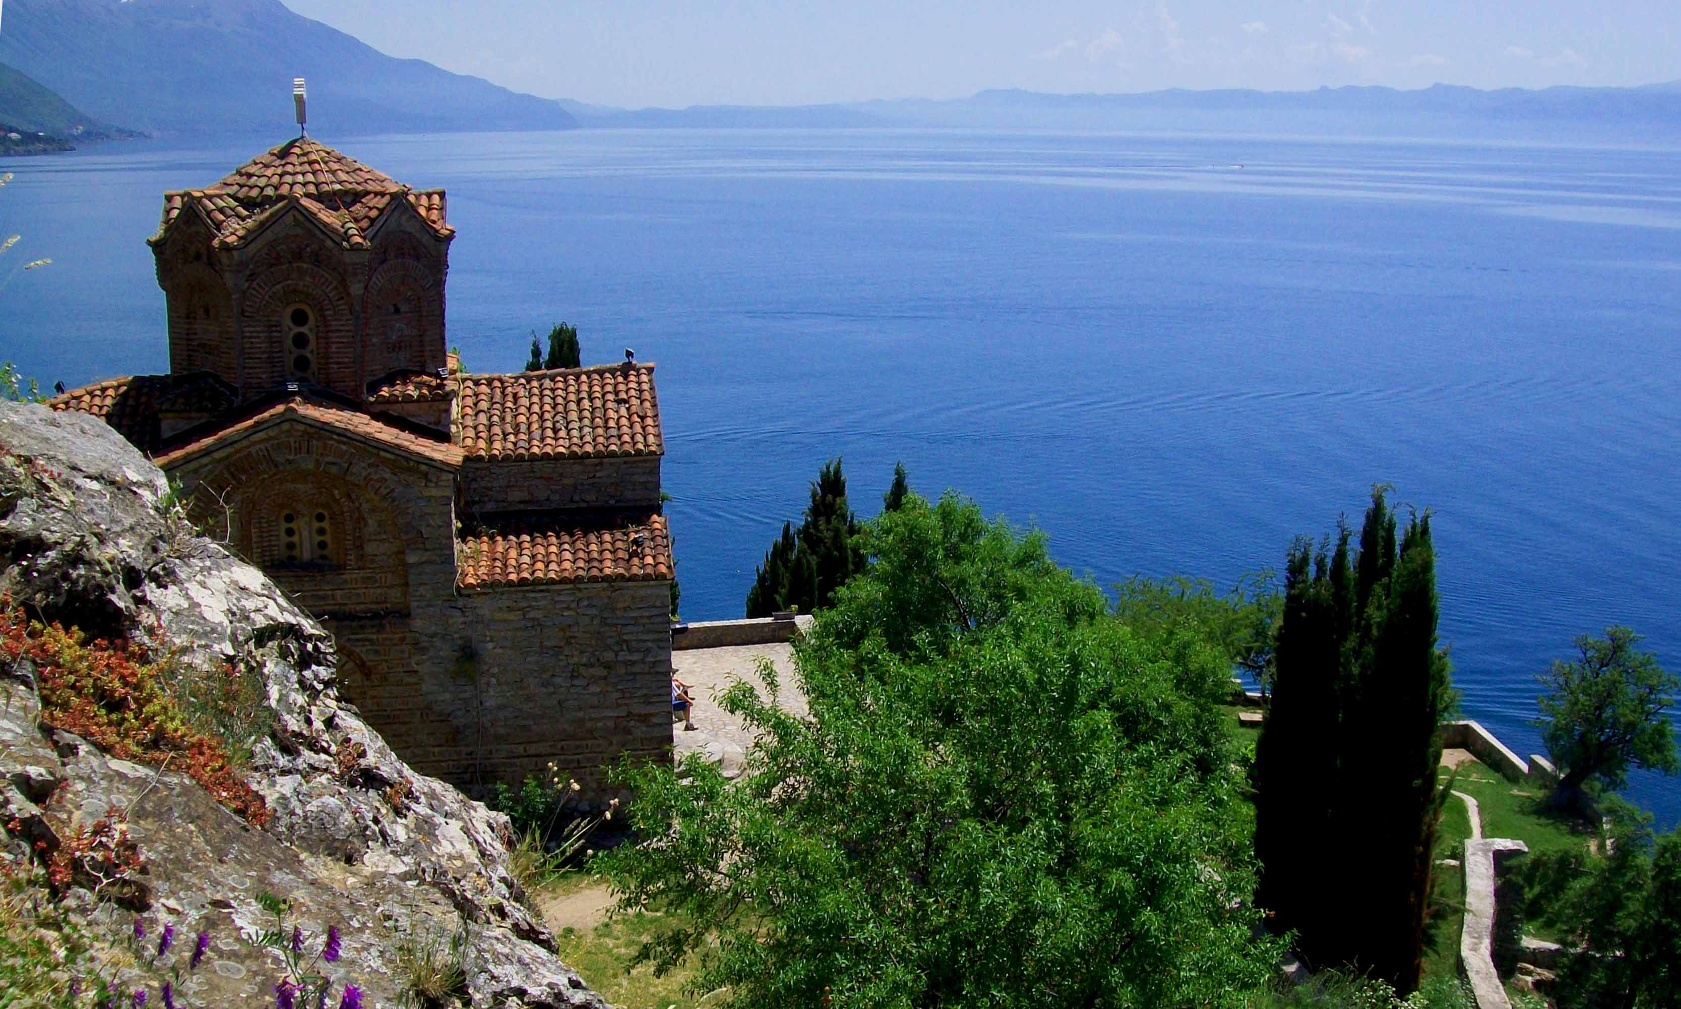
POLYGON ((477 459, 659 456, 654 365, 456 375, 456 441, 477 459))

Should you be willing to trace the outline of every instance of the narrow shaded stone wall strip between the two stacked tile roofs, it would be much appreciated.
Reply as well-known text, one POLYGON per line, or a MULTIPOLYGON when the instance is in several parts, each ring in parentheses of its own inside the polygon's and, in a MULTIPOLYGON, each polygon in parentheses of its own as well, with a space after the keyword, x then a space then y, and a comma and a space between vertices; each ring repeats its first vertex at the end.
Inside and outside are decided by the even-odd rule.
POLYGON ((474 461, 461 468, 467 513, 657 508, 659 456, 474 461))

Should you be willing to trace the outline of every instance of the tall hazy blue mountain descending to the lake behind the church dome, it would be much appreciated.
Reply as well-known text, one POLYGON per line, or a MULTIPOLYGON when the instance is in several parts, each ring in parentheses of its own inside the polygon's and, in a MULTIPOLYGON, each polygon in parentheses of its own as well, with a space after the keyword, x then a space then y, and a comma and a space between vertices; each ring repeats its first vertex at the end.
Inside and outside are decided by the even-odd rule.
POLYGON ((385 55, 279 0, 12 0, 0 62, 163 135, 272 135, 292 121, 292 77, 323 133, 577 126, 560 103, 385 55))

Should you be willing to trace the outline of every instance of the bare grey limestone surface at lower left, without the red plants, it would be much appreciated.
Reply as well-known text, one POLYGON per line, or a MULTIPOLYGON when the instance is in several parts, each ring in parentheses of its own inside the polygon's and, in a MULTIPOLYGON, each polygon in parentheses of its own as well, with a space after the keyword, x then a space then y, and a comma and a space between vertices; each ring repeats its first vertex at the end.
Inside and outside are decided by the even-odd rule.
MULTIPOLYGON (((603 1006, 519 903, 506 817, 398 760, 340 701, 321 626, 197 535, 163 474, 101 420, 0 402, 0 594, 91 636, 161 632, 180 661, 262 671, 276 726, 249 780, 272 819, 254 827, 177 767, 42 728, 34 669, 0 664, 0 844, 17 859, 35 843, 55 848, 67 824, 128 809, 145 859, 129 903, 155 928, 213 937, 208 965, 183 970, 187 1004, 272 999, 279 960, 237 940, 264 925, 256 896, 267 890, 306 932, 341 928, 328 974, 361 985, 370 1006, 397 1004, 405 940, 447 947, 457 932, 472 1006, 603 1006)), ((84 905, 94 933, 129 925, 131 910, 86 891, 67 901, 84 905)), ((177 940, 173 965, 190 950, 177 940)))

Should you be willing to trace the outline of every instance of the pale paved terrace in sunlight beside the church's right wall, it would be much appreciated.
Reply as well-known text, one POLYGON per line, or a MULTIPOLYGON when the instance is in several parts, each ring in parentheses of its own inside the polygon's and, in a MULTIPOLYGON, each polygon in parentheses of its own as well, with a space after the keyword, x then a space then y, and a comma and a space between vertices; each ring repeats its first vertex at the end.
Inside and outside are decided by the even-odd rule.
POLYGON ((756 668, 760 659, 770 659, 777 668, 778 701, 793 715, 805 715, 805 695, 793 681, 792 644, 738 644, 726 647, 698 647, 671 652, 677 678, 694 686, 694 732, 684 732, 681 720, 672 721, 672 738, 677 755, 706 753, 723 767, 725 775, 741 774, 741 758, 753 735, 741 721, 718 708, 716 696, 736 679, 755 684, 760 693, 756 668))

